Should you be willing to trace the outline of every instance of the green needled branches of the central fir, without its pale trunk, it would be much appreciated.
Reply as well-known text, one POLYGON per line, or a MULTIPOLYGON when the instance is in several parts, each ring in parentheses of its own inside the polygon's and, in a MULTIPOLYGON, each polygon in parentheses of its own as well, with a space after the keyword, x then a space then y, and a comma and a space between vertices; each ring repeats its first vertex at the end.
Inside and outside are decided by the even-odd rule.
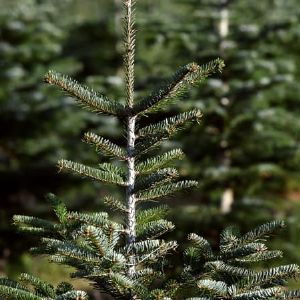
MULTIPOLYGON (((177 82, 176 85, 178 84, 179 87, 174 88, 174 91, 166 92, 166 95, 161 97, 160 100, 170 97, 175 90, 179 91, 189 84, 194 84, 194 81, 201 80, 214 69, 219 70, 222 68, 222 62, 217 60, 203 68, 198 67, 196 64, 191 66, 193 68, 190 67, 190 71, 195 72, 195 74, 186 76, 182 82, 177 82)), ((120 114, 121 110, 116 108, 117 105, 108 106, 109 100, 95 98, 96 95, 90 93, 87 88, 79 86, 64 76, 48 73, 46 80, 75 95, 81 103, 93 110, 97 110, 97 112, 119 117, 123 113, 128 114, 129 117, 132 114, 129 108, 122 110, 120 114)), ((153 106, 152 102, 147 105, 147 107, 151 106, 153 106)), ((146 107, 139 109, 143 113, 146 110, 146 107)), ((194 111, 166 119, 162 121, 162 124, 167 124, 166 129, 168 132, 173 132, 179 129, 180 125, 183 125, 186 121, 195 120, 199 117, 200 112, 194 111)), ((144 128, 141 132, 147 138, 149 135, 147 130, 148 132, 151 131, 151 136, 151 134, 161 131, 161 126, 161 124, 154 123, 153 125, 148 125, 149 129, 144 128)), ((85 140, 94 144, 96 149, 102 149, 106 153, 109 152, 115 158, 124 159, 125 156, 125 160, 128 160, 128 154, 125 150, 107 140, 90 133, 85 135, 85 140), (120 155, 121 153, 122 155, 120 155)), ((167 167, 172 161, 182 157, 182 151, 176 149, 160 156, 144 159, 144 161, 137 164, 137 186, 132 191, 136 195, 136 203, 156 199, 174 191, 197 185, 196 181, 189 180, 173 182, 178 177, 177 171, 170 168, 162 169, 167 167)), ((61 170, 72 170, 75 173, 95 180, 119 184, 125 187, 128 185, 126 174, 122 171, 122 168, 117 167, 115 164, 100 164, 99 168, 96 169, 83 164, 60 160, 58 165, 61 170)), ((106 199, 106 202, 122 213, 129 213, 130 208, 126 208, 126 203, 122 204, 122 202, 109 197, 106 199)), ((53 225, 54 230, 56 230, 55 234, 51 232, 47 235, 46 231, 40 231, 42 233, 42 245, 33 249, 35 253, 49 254, 52 261, 68 264, 76 268, 77 271, 73 273, 74 277, 94 281, 101 290, 110 293, 117 299, 131 299, 137 293, 144 295, 143 297, 146 297, 145 295, 147 294, 147 299, 152 299, 151 297, 158 293, 157 290, 151 292, 149 288, 151 289, 157 274, 160 274, 159 261, 170 250, 177 247, 176 242, 165 242, 157 239, 174 228, 171 222, 159 217, 164 215, 164 210, 161 212, 160 208, 141 210, 143 217, 139 214, 139 217, 134 221, 137 222, 137 240, 132 243, 127 242, 128 229, 126 229, 126 226, 109 221, 107 215, 98 215, 97 218, 100 218, 100 222, 99 220, 95 222, 93 221, 93 215, 66 214, 66 210, 61 208, 61 202, 56 202, 54 210, 58 215, 60 224, 53 225), (68 222, 62 222, 62 220, 66 219, 68 222), (148 221, 145 221, 145 219, 148 221), (128 269, 132 265, 132 257, 134 257, 133 266, 136 272, 129 275, 128 269), (146 275, 147 280, 144 279, 146 275)), ((137 208, 138 211, 139 209, 137 208)), ((19 217, 19 219, 22 222, 26 222, 24 218, 19 217)), ((32 230, 38 233, 37 229, 32 230)), ((160 277, 163 278, 162 274, 160 274, 160 277)), ((164 294, 165 292, 161 293, 164 294)))

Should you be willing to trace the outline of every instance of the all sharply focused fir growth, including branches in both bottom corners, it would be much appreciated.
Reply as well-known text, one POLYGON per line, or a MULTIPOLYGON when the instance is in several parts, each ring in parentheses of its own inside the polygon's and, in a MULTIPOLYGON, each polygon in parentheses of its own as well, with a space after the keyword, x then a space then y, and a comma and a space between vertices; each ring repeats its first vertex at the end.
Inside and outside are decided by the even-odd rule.
MULTIPOLYGON (((242 264, 243 261, 251 262, 251 259, 259 261, 278 256, 278 252, 267 251, 261 243, 266 235, 282 226, 278 222, 266 224, 241 237, 232 230, 225 231, 222 234, 220 254, 217 255, 212 253, 207 241, 191 234, 189 238, 194 241, 195 246, 193 250, 188 249, 186 252, 189 264, 187 263, 183 274, 171 279, 163 271, 166 256, 177 248, 177 243, 166 241, 162 236, 172 230, 174 225, 164 219, 166 207, 149 207, 145 203, 197 186, 198 183, 178 180, 177 170, 170 167, 172 162, 183 158, 180 149, 154 156, 152 150, 186 122, 198 121, 201 112, 194 109, 159 122, 154 121, 152 113, 180 97, 210 74, 221 71, 224 63, 216 59, 204 66, 187 64, 149 96, 135 101, 135 3, 133 0, 124 0, 123 3, 124 102, 111 100, 57 72, 50 71, 45 76, 46 82, 64 90, 79 105, 95 113, 115 117, 123 124, 126 133, 125 147, 95 133, 89 132, 84 136, 86 143, 95 147, 97 152, 111 157, 111 162, 101 163, 98 167, 64 159, 58 162, 62 171, 72 171, 80 176, 123 188, 124 199, 111 196, 105 198, 105 202, 123 216, 123 222, 112 220, 104 212, 68 211, 61 200, 49 195, 56 222, 17 215, 14 217, 15 224, 21 231, 41 237, 41 244, 32 249, 34 253, 47 254, 52 262, 74 267, 73 277, 92 281, 96 288, 115 299, 185 299, 187 295, 179 296, 180 293, 195 283, 202 298, 190 299, 296 298, 299 292, 285 293, 278 286, 284 283, 284 279, 297 275, 297 266, 283 266, 255 273, 256 275, 243 266, 236 267, 239 262, 242 264), (143 126, 145 117, 148 118, 148 124, 143 126), (205 258, 204 264, 202 256, 205 258), (227 278, 227 275, 230 276, 227 278)), ((31 275, 22 275, 21 280, 28 282, 33 289, 8 279, 1 280, 0 294, 4 299, 86 298, 84 292, 74 291, 66 284, 59 285, 55 290, 31 275)))

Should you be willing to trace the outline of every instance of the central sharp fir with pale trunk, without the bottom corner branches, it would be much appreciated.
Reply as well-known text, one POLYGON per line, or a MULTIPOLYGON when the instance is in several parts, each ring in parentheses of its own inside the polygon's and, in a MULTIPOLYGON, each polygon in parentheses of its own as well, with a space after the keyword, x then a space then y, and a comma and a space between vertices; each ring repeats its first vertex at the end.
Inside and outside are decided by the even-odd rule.
MULTIPOLYGON (((148 159, 142 154, 149 152, 161 138, 168 138, 184 123, 198 120, 201 114, 199 111, 193 111, 167 118, 160 124, 151 122, 150 119, 149 125, 141 129, 136 148, 134 142, 132 143, 138 135, 135 123, 140 127, 141 117, 154 108, 157 110, 166 100, 174 99, 209 74, 220 71, 224 64, 218 59, 202 67, 196 63, 189 64, 176 72, 164 86, 157 88, 148 98, 134 104, 135 32, 132 28, 134 22, 131 11, 133 3, 129 1, 124 4, 127 14, 124 54, 126 105, 111 101, 68 76, 56 72, 48 72, 45 80, 73 96, 88 110, 116 116, 118 119, 127 119, 126 149, 97 135, 91 133, 85 135, 85 141, 96 146, 96 150, 102 150, 104 154, 109 154, 114 159, 121 159, 125 162, 123 165, 117 165, 113 161, 94 168, 69 160, 58 162, 60 170, 71 170, 97 181, 123 186, 126 189, 126 199, 118 201, 107 197, 106 203, 118 209, 124 215, 125 222, 124 224, 112 222, 108 215, 102 213, 92 215, 69 213, 61 201, 50 196, 58 223, 24 216, 15 217, 15 223, 19 223, 20 229, 26 232, 41 235, 42 244, 33 248, 34 253, 48 254, 51 261, 74 267, 76 269, 74 277, 89 279, 98 288, 119 299, 131 299, 137 293, 143 294, 145 299, 147 295, 150 299, 155 297, 155 294, 161 293, 155 289, 153 294, 151 292, 158 274, 163 280, 161 259, 174 250, 177 243, 158 239, 174 227, 171 222, 159 217, 164 215, 163 208, 160 213, 160 208, 149 210, 137 204, 196 186, 198 183, 189 180, 177 181, 177 171, 167 168, 172 162, 183 158, 180 149, 159 156, 152 154, 148 159), (153 140, 153 136, 162 131, 162 126, 166 129, 163 136, 158 135, 159 138, 153 140), (152 142, 149 143, 148 138, 152 142), (136 165, 135 158, 138 159, 136 165), (147 222, 144 218, 135 217, 139 212, 144 214, 144 218, 148 219, 147 222)), ((121 125, 123 124, 124 120, 121 125)))

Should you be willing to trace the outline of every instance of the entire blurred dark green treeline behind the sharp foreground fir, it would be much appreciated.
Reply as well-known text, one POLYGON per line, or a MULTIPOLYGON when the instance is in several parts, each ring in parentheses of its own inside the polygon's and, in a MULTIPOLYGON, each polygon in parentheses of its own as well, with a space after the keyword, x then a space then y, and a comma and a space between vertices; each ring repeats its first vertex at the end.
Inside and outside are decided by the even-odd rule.
MULTIPOLYGON (((116 141, 123 132, 46 86, 43 74, 55 69, 122 99, 121 10, 121 0, 0 0, 0 273, 43 270, 24 254, 35 241, 14 231, 13 214, 48 215, 48 192, 77 210, 103 209, 102 196, 119 192, 57 172, 62 157, 104 159, 80 142, 87 129, 116 141)), ((203 111, 173 142, 188 157, 182 176, 200 179, 199 189, 166 200, 177 239, 197 231, 217 243, 228 224, 285 218, 278 243, 286 261, 300 263, 299 19, 297 0, 137 1, 137 101, 180 65, 226 63, 164 112, 203 111)))

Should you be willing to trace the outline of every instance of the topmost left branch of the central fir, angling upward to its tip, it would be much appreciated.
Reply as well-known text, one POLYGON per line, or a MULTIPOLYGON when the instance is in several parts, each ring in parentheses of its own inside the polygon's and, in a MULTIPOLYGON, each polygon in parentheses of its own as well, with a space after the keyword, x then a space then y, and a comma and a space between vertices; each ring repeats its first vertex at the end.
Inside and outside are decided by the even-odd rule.
POLYGON ((79 84, 76 80, 66 75, 49 71, 45 75, 45 81, 66 91, 70 96, 75 97, 80 105, 93 112, 112 116, 122 116, 126 113, 124 105, 109 100, 105 96, 79 84))

